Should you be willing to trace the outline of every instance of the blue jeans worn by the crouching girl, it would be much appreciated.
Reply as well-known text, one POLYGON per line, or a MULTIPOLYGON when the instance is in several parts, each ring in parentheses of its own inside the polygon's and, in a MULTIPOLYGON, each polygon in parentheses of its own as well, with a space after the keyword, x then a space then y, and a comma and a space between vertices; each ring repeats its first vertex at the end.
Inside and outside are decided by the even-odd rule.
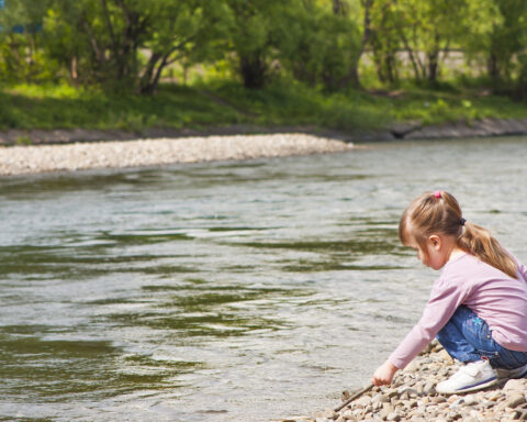
POLYGON ((460 362, 489 359, 494 368, 515 369, 527 364, 527 352, 502 347, 492 338, 485 321, 466 306, 459 307, 437 340, 450 356, 460 362))

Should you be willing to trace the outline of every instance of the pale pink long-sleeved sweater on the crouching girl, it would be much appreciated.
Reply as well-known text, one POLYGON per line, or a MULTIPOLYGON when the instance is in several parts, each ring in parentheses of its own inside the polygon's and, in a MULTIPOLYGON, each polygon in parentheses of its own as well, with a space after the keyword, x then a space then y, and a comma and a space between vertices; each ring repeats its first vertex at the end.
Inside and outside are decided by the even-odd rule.
POLYGON ((527 352, 527 268, 518 263, 518 279, 464 254, 448 262, 431 287, 423 316, 389 360, 404 368, 464 304, 484 320, 503 347, 527 352))

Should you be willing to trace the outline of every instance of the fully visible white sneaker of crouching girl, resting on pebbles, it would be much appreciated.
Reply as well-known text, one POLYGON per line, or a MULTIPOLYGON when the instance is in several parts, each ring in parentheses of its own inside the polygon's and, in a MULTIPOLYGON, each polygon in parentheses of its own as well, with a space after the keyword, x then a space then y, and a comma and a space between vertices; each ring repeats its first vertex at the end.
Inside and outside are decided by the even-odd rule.
POLYGON ((449 379, 439 382, 436 391, 444 395, 457 395, 482 390, 497 382, 497 374, 489 360, 478 360, 463 365, 449 379))

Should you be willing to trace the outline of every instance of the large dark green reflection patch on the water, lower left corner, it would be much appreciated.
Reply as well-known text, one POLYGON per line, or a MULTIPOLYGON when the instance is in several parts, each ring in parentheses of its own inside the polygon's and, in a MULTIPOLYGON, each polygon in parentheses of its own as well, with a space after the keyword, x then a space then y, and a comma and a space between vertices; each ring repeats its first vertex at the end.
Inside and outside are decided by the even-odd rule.
MULTIPOLYGON (((176 377, 203 367, 199 362, 127 355, 110 341, 43 340, 31 335, 32 330, 8 326, 0 334, 0 392, 19 402, 99 400, 138 385, 150 390, 175 388, 176 377)), ((42 332, 42 326, 35 331, 42 332)))

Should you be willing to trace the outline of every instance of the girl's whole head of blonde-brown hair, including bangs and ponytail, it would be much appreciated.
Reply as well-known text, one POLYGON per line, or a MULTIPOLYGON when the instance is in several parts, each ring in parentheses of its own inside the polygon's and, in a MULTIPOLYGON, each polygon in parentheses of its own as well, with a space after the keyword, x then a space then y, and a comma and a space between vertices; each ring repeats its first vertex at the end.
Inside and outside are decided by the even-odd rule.
POLYGON ((517 264, 491 233, 462 218, 456 198, 445 191, 425 192, 404 211, 399 223, 399 237, 407 246, 412 240, 427 254, 426 242, 431 234, 456 236, 457 246, 483 263, 517 278, 517 264), (411 227, 408 227, 411 224, 411 227), (464 225, 464 230, 463 230, 464 225))

